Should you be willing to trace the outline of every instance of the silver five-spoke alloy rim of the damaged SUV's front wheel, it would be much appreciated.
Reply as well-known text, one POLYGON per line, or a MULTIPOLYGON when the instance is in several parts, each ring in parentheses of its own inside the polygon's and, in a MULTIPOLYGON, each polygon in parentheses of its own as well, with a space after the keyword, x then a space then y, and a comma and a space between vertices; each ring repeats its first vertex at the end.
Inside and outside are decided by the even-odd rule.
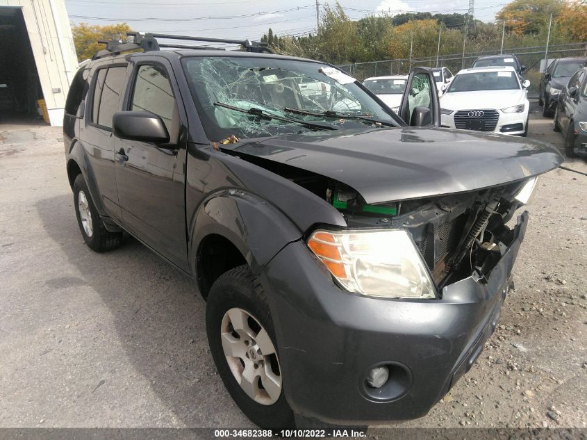
POLYGON ((243 309, 229 309, 222 318, 220 339, 226 362, 242 391, 261 405, 279 400, 279 359, 261 323, 243 309))

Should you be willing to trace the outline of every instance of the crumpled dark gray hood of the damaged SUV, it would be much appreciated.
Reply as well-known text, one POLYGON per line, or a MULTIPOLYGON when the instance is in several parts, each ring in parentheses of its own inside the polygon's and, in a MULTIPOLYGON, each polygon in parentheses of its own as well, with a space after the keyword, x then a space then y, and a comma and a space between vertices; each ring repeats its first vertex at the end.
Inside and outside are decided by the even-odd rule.
POLYGON ((563 162, 536 140, 417 127, 300 133, 222 149, 329 177, 368 204, 498 186, 563 162))

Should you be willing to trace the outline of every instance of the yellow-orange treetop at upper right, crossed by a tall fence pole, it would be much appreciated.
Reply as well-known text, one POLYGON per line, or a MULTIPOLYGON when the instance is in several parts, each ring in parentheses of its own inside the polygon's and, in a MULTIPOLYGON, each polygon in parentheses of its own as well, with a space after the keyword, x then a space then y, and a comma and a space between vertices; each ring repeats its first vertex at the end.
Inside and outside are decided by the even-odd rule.
POLYGON ((495 15, 515 34, 536 34, 548 27, 550 15, 559 15, 563 0, 513 0, 495 15))

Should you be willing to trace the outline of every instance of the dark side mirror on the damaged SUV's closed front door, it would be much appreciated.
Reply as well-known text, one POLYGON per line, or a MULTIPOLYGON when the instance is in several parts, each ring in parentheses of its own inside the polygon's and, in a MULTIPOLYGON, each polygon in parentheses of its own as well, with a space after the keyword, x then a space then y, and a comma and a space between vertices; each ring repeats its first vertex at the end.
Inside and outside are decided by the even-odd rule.
POLYGON ((113 116, 114 135, 121 139, 166 144, 170 141, 163 120, 149 111, 118 111, 113 116))

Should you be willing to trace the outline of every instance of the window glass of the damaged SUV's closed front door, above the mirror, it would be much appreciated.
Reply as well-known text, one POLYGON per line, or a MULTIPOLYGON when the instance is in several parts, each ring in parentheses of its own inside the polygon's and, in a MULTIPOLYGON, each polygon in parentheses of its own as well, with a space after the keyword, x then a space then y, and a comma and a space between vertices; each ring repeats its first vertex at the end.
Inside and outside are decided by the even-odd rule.
POLYGON ((174 134, 176 104, 167 71, 160 65, 138 68, 131 101, 132 111, 149 111, 163 120, 170 136, 174 134))

